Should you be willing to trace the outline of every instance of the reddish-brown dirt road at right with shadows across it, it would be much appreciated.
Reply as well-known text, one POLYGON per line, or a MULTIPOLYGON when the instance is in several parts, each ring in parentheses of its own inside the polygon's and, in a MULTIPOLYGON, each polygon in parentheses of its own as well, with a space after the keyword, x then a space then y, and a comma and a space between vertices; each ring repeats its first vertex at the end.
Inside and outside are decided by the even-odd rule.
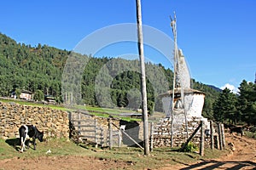
POLYGON ((178 165, 161 168, 167 169, 256 169, 256 139, 249 139, 232 134, 226 134, 226 148, 230 155, 215 160, 202 160, 192 165, 178 165), (231 145, 228 145, 232 143, 231 145))

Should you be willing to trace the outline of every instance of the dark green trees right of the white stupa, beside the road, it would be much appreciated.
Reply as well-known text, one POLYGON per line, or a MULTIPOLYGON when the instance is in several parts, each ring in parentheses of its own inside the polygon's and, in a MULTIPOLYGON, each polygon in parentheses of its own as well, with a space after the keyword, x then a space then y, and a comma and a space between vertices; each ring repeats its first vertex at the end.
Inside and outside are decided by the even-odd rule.
POLYGON ((225 88, 218 94, 212 109, 213 117, 218 122, 256 126, 256 79, 255 82, 243 80, 239 94, 233 94, 225 88))

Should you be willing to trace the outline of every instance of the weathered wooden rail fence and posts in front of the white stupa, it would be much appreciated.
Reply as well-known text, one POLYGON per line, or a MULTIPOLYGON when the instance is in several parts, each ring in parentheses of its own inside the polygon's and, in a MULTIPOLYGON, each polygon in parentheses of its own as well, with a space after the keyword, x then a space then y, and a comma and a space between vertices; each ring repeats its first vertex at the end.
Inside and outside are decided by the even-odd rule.
MULTIPOLYGON (((92 118, 91 116, 87 116, 84 118, 84 115, 78 113, 77 116, 70 116, 70 121, 75 127, 76 131, 79 133, 79 137, 81 139, 86 140, 87 142, 93 143, 102 146, 109 146, 112 147, 121 147, 125 146, 123 144, 123 139, 128 138, 130 139, 134 145, 137 145, 139 148, 143 150, 143 147, 137 142, 137 139, 133 139, 133 137, 125 131, 125 129, 120 128, 117 122, 113 122, 112 118, 105 118, 105 125, 103 126, 101 123, 98 122, 96 118, 92 118)), ((205 135, 206 129, 204 128, 203 122, 199 124, 199 126, 195 129, 195 131, 191 134, 189 139, 187 139, 185 144, 188 144, 190 139, 193 139, 195 133, 200 132, 200 154, 201 156, 204 155, 204 148, 205 148, 205 135), (199 131, 201 129, 201 131, 199 131)), ((149 141, 150 141, 150 150, 153 150, 154 145, 154 138, 160 138, 160 135, 155 132, 155 127, 157 125, 153 122, 150 122, 149 126, 149 141)), ((224 125, 221 123, 214 123, 210 122, 209 131, 208 133, 210 136, 210 146, 213 149, 217 148, 219 150, 224 150, 225 147, 225 139, 224 139, 224 125)), ((129 129, 128 129, 129 130, 129 129)), ((166 139, 166 136, 163 135, 163 138, 166 139)), ((209 137, 207 137, 209 138, 209 137)), ((170 140, 170 139, 169 139, 170 140)))

